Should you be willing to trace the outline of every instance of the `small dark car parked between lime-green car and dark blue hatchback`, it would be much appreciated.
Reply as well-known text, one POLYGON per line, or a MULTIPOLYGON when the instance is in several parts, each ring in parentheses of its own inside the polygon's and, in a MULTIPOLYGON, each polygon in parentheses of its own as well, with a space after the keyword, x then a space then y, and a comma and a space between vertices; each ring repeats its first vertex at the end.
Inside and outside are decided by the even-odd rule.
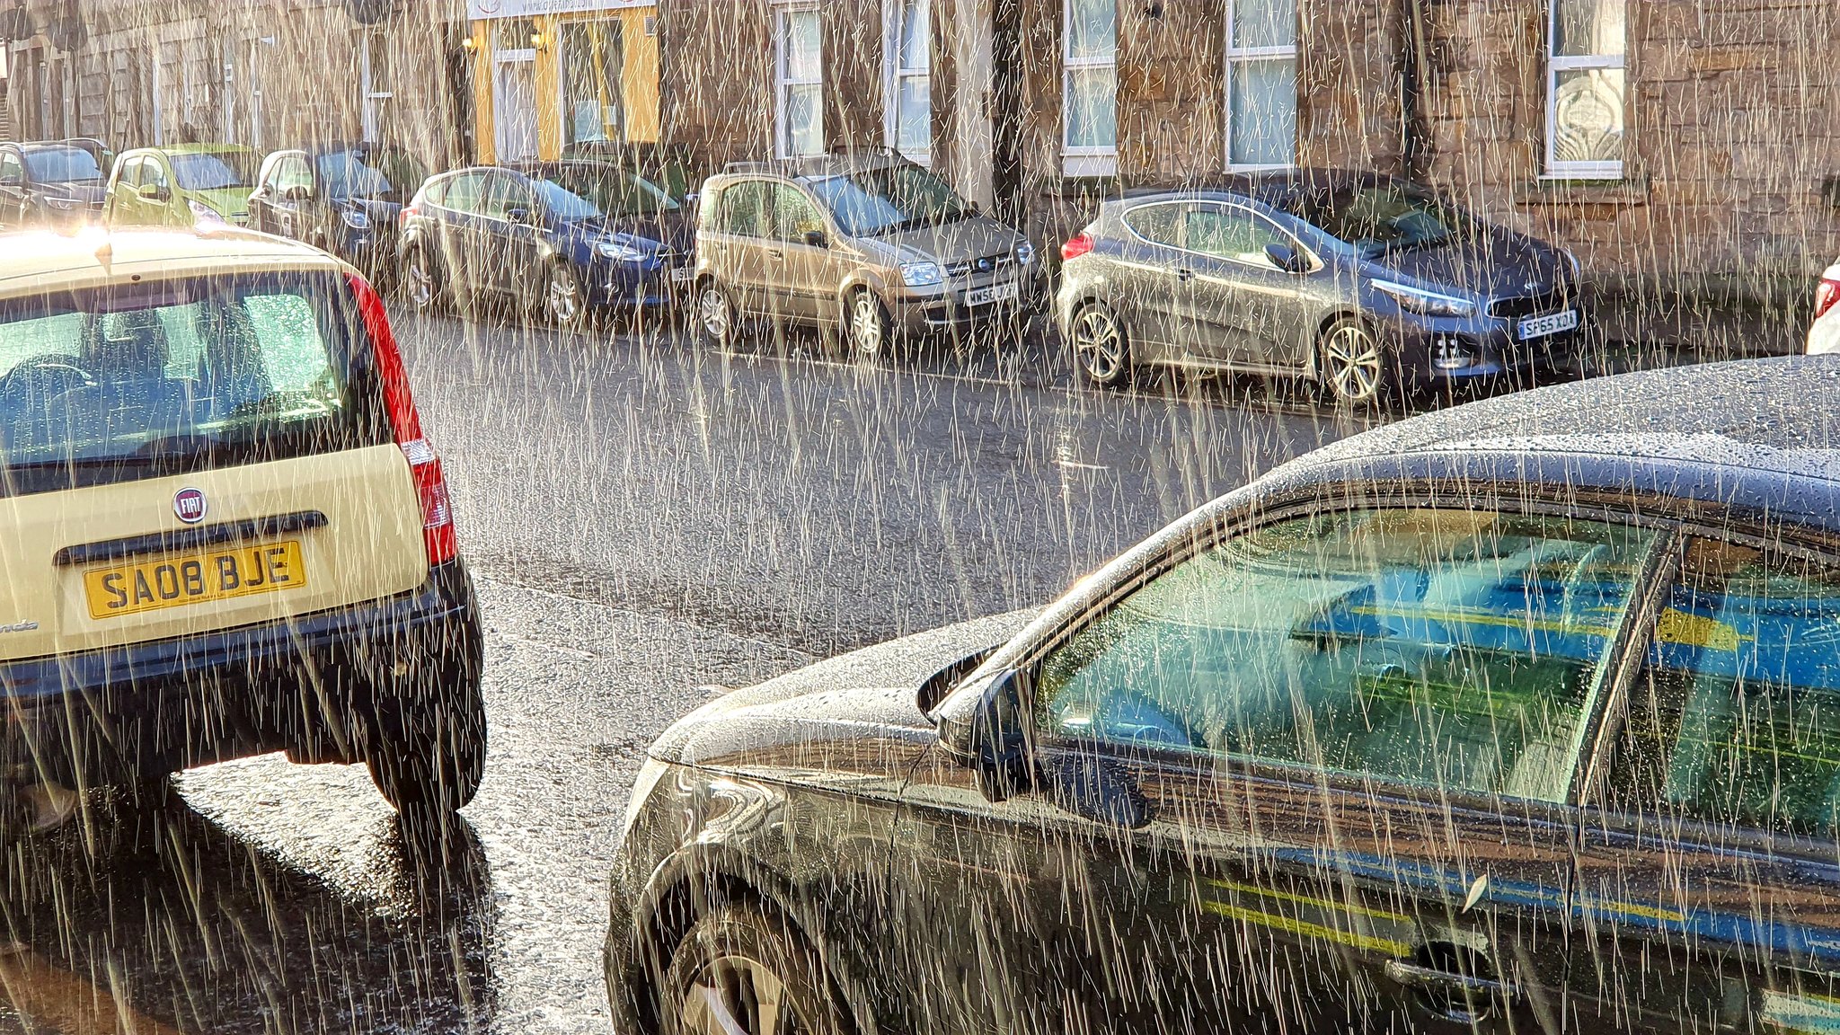
POLYGON ((427 179, 414 155, 390 144, 274 151, 248 195, 248 225, 326 249, 374 282, 390 280, 397 214, 427 179))

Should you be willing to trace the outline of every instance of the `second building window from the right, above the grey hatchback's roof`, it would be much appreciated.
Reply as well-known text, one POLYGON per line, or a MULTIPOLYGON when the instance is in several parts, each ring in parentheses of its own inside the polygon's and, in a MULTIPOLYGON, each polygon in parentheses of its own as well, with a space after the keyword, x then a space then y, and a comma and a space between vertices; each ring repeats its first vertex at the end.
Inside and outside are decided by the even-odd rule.
POLYGON ((1227 0, 1227 168, 1297 164, 1297 0, 1227 0))

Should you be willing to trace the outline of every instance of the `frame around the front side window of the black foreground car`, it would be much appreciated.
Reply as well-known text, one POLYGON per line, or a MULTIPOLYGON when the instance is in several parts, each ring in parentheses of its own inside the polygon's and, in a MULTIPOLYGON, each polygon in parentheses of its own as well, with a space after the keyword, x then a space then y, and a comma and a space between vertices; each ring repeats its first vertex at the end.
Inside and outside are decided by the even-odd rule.
MULTIPOLYGON (((1673 558, 1678 554, 1682 536, 1691 532, 1685 532, 1682 521, 1674 516, 1632 510, 1628 506, 1617 510, 1612 506, 1568 505, 1547 497, 1511 497, 1505 494, 1500 497, 1472 499, 1466 501, 1466 505, 1474 508, 1494 508, 1501 514, 1522 518, 1597 521, 1606 525, 1650 529, 1656 532, 1654 541, 1649 545, 1649 552, 1641 558, 1638 573, 1632 580, 1632 591, 1628 606, 1623 611, 1621 624, 1610 637, 1593 685, 1584 694, 1581 704, 1579 729, 1573 735, 1573 768, 1562 801, 1428 786, 1380 773, 1345 773, 1275 759, 1183 751, 1152 744, 1117 744, 1108 740, 1075 738, 1038 726, 1038 702, 1034 692, 1041 663, 1047 656, 1065 646, 1075 635, 1111 613, 1119 602, 1156 582, 1159 576, 1229 540, 1297 518, 1349 514, 1360 510, 1455 508, 1450 495, 1439 494, 1432 486, 1411 486, 1404 492, 1393 494, 1386 494, 1386 486, 1376 486, 1374 490, 1343 492, 1332 497, 1308 494, 1301 497, 1279 499, 1270 505, 1260 505, 1257 510, 1235 514, 1224 521, 1218 518, 1205 519, 1207 523, 1190 529, 1189 534, 1174 538, 1168 549, 1154 560, 1143 564, 1130 578, 1110 586, 1104 595, 1089 600, 1076 615, 1041 635, 1029 646, 1027 654, 1018 657, 1014 669, 1019 674, 1023 687, 1021 715, 1029 716, 1034 755, 1091 755, 1097 751, 1108 759, 1130 764, 1148 764, 1161 770, 1194 770, 1198 766, 1213 766, 1216 772, 1233 772, 1255 779, 1273 779, 1294 786, 1334 788, 1369 797, 1387 796, 1435 803, 1448 801, 1452 805, 1463 803, 1483 810, 1496 810, 1501 803, 1509 801, 1518 803, 1518 807, 1568 812, 1592 808, 1595 805, 1593 797, 1597 788, 1597 783, 1593 781, 1601 781, 1597 775, 1599 766, 1608 768, 1610 759, 1606 753, 1614 751, 1616 735, 1621 729, 1617 720, 1617 716, 1621 716, 1619 707, 1627 700, 1630 683, 1641 670, 1649 630, 1654 624, 1656 608, 1665 597, 1673 558)), ((1652 818, 1645 821, 1652 823, 1652 818)))

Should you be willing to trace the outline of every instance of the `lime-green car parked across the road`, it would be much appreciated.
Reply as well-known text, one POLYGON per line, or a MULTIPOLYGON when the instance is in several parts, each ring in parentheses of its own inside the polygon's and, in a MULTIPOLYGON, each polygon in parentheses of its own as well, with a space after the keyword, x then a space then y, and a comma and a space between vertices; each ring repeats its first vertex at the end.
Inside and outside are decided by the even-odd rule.
POLYGON ((110 227, 248 223, 256 153, 236 144, 134 147, 116 157, 103 221, 110 227))

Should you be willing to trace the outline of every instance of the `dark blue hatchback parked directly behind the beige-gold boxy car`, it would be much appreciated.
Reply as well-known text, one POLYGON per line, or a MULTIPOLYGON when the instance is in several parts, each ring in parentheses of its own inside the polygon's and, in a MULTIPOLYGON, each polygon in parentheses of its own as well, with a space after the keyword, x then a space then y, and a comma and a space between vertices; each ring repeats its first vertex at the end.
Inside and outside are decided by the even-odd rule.
POLYGON ((644 177, 530 162, 431 179, 403 210, 399 250, 418 309, 500 297, 574 326, 594 308, 668 304, 692 245, 688 214, 644 177))

